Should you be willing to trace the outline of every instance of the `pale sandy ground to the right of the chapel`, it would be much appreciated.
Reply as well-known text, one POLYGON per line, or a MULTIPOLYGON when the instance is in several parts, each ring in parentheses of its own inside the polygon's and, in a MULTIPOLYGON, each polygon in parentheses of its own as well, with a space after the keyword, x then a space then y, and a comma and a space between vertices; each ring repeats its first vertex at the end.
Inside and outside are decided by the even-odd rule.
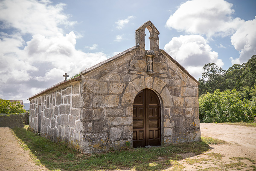
POLYGON ((200 123, 200 129, 201 136, 221 139, 228 144, 209 145, 212 149, 201 155, 184 155, 180 161, 185 166, 184 171, 253 171, 251 166, 256 164, 251 160, 256 161, 256 127, 200 123), (218 157, 219 154, 222 157, 218 157))

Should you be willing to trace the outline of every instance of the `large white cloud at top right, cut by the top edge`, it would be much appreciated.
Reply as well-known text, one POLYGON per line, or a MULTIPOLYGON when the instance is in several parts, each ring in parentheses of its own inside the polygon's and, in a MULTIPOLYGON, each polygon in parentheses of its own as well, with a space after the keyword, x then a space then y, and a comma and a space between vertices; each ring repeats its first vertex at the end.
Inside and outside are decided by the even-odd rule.
POLYGON ((224 0, 189 0, 169 17, 166 26, 207 37, 232 35, 244 23, 232 17, 232 6, 224 0))

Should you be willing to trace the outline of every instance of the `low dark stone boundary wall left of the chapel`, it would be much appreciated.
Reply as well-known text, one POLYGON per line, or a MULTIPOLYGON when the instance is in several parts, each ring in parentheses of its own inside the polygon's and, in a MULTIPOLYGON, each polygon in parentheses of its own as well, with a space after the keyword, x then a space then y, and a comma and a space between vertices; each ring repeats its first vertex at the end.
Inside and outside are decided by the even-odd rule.
POLYGON ((21 114, 0 114, 0 127, 23 127, 23 123, 26 125, 28 122, 29 114, 21 113, 21 114))

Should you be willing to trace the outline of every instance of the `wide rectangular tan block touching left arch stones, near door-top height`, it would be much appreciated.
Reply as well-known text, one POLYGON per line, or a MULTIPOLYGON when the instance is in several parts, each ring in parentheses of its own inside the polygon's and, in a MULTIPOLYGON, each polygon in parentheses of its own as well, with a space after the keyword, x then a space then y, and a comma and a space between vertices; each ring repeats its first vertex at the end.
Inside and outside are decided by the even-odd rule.
POLYGON ((118 104, 119 96, 116 95, 93 97, 93 107, 116 107, 118 104))

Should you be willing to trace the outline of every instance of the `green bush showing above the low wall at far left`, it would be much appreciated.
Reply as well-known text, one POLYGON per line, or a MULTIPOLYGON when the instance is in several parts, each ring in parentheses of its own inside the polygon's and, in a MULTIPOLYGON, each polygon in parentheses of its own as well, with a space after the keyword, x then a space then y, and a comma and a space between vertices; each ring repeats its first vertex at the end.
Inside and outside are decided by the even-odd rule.
POLYGON ((0 99, 0 113, 25 113, 23 105, 18 101, 11 102, 9 100, 0 99))

